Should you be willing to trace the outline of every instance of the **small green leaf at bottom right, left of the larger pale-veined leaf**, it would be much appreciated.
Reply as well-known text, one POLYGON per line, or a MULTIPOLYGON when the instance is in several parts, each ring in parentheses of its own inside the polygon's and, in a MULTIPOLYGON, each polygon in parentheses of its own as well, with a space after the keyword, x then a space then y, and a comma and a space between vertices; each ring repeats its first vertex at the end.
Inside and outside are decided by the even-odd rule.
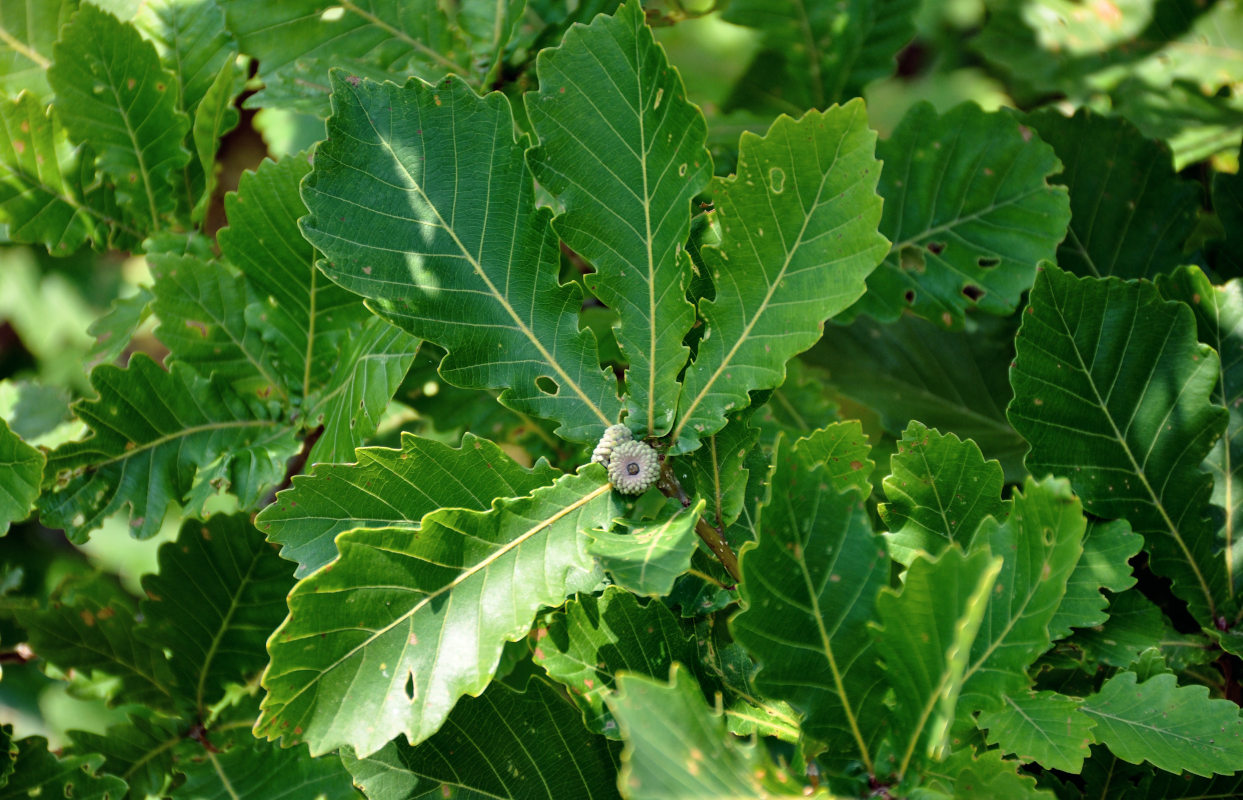
POLYGON ((1095 742, 1095 722, 1084 714, 1080 701, 1057 692, 1025 692, 1002 698, 1004 706, 979 714, 977 724, 988 730, 988 743, 1021 761, 1045 769, 1079 774, 1088 745, 1095 742))

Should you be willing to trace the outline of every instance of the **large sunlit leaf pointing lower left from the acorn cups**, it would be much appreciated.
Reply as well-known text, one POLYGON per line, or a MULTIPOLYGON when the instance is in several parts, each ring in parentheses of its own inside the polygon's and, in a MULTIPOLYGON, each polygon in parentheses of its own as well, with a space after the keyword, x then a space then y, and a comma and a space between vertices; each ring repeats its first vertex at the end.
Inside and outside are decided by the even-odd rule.
POLYGON ((399 733, 423 742, 487 686, 539 606, 599 584, 579 530, 618 513, 603 467, 588 465, 486 512, 338 537, 341 558, 298 583, 272 634, 256 733, 316 755, 346 744, 370 755, 399 733))

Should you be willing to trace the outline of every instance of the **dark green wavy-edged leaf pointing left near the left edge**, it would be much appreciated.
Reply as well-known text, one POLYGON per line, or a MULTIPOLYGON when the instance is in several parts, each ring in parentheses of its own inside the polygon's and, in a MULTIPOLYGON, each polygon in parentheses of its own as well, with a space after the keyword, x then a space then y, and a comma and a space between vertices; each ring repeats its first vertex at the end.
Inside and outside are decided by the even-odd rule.
POLYGON ((297 451, 291 432, 271 412, 184 364, 165 373, 144 354, 128 369, 109 364, 91 373, 94 400, 73 410, 92 435, 47 457, 40 517, 85 542, 106 517, 131 508, 135 537, 159 530, 169 503, 195 506, 227 489, 244 508, 280 483, 285 460, 297 451))

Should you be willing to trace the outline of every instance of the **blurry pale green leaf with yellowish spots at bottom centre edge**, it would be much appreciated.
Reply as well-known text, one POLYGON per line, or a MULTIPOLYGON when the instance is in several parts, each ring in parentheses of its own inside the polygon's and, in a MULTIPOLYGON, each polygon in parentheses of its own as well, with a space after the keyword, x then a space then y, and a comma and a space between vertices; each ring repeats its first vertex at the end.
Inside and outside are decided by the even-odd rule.
POLYGON ((625 740, 618 785, 628 800, 827 796, 804 794, 763 748, 730 735, 685 670, 674 667, 667 684, 622 675, 608 702, 625 740))

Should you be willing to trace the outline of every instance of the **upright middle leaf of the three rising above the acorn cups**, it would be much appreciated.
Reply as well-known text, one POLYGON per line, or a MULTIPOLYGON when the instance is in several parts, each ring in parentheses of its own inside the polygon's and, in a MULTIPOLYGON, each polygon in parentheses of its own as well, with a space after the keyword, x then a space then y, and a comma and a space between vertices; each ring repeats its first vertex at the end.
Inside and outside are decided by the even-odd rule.
POLYGON ((531 168, 564 204, 553 229, 595 267, 587 287, 620 314, 626 420, 661 436, 674 422, 689 354, 682 337, 695 323, 684 242, 691 199, 712 178, 704 114, 636 0, 569 29, 559 47, 539 53, 538 72, 539 92, 526 96, 539 138, 531 168))

